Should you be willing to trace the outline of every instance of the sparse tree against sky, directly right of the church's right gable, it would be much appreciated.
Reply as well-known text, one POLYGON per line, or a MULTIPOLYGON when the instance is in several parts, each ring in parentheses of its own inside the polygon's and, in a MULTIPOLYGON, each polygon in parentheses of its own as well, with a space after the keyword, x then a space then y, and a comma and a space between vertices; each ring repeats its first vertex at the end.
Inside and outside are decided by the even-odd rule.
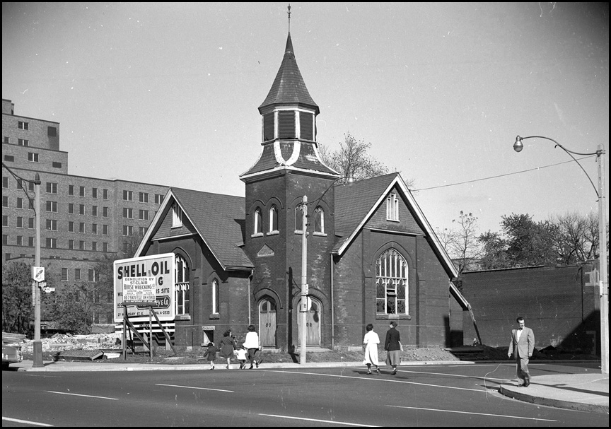
POLYGON ((437 230, 437 235, 459 273, 462 273, 479 266, 479 258, 482 257, 482 245, 477 235, 477 217, 461 210, 458 219, 453 219, 452 223, 457 225, 457 229, 437 230))

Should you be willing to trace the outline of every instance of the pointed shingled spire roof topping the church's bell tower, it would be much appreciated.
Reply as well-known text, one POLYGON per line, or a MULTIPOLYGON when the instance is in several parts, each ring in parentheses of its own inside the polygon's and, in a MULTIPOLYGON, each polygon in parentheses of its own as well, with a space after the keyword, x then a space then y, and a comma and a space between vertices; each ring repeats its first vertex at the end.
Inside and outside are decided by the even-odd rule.
POLYGON ((303 82, 301 72, 293 54, 293 42, 291 42, 291 33, 286 39, 286 48, 284 49, 284 58, 278 74, 272 84, 272 89, 269 90, 265 101, 259 106, 259 112, 262 112, 263 107, 277 104, 298 104, 315 109, 316 114, 320 112, 318 105, 310 97, 306 83, 303 82))

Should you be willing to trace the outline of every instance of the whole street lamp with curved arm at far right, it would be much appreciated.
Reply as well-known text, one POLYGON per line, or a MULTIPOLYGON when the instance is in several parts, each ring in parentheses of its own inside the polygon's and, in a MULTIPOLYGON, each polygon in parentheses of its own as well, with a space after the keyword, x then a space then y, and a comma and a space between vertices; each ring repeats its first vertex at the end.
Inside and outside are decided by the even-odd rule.
POLYGON ((594 187, 596 194, 598 195, 598 293, 600 298, 600 366, 601 372, 603 374, 609 374, 609 285, 607 280, 607 231, 606 225, 607 222, 606 212, 605 212, 605 160, 603 155, 605 155, 605 150, 603 149, 603 145, 599 144, 598 148, 595 152, 592 153, 578 153, 569 151, 569 149, 562 146, 560 143, 555 141, 554 139, 550 139, 545 136, 528 136, 528 137, 520 137, 516 136, 516 142, 513 143, 513 150, 516 152, 522 151, 524 145, 522 143, 525 139, 546 139, 553 141, 556 143, 556 146, 559 146, 563 151, 569 154, 573 160, 579 164, 578 160, 572 154, 575 155, 596 155, 596 160, 598 163, 598 189, 594 186, 592 179, 581 167, 586 176, 588 176, 588 180, 594 187))

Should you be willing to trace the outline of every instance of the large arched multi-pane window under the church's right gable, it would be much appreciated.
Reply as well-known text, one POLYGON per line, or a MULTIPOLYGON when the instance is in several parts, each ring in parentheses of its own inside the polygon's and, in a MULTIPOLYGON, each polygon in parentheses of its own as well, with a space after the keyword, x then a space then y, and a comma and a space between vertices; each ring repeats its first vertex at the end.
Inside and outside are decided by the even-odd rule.
POLYGON ((395 249, 388 249, 376 262, 376 312, 407 315, 407 261, 395 249))

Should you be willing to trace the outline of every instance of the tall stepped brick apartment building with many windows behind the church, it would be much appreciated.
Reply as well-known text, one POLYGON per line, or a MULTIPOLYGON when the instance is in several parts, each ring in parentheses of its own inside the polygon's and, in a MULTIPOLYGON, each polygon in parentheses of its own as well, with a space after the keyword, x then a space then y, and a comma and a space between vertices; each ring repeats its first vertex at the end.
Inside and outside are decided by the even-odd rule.
MULTIPOLYGON (((8 169, 25 180, 38 173, 40 261, 47 278, 56 278, 56 287, 96 281, 95 266, 105 254, 133 256, 169 187, 69 175, 59 122, 18 116, 14 107, 2 100, 2 264, 32 264, 35 254, 35 212, 28 199, 34 201, 34 184, 8 169)), ((95 322, 112 323, 112 308, 95 322)))

